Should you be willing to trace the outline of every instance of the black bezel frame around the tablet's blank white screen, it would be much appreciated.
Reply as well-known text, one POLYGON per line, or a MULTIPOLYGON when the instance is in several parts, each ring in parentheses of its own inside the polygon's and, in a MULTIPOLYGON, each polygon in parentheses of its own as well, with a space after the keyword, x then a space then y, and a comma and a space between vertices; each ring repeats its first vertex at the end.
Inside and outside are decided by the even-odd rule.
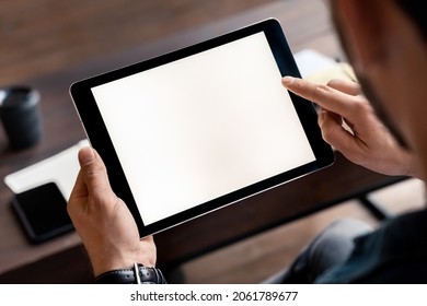
MULTIPOLYGON (((104 74, 100 74, 86 80, 82 80, 73 83, 70 86, 70 95, 74 102, 74 106, 78 110, 80 119, 83 123, 83 128, 91 142, 91 145, 102 156, 107 170, 108 177, 113 190, 118 197, 120 197, 128 205, 132 213, 140 236, 147 236, 149 234, 161 232, 165 228, 175 226, 180 223, 186 222, 191 219, 200 216, 207 212, 222 208, 224 205, 234 203, 239 200, 247 198, 250 196, 259 193, 278 185, 285 184, 291 179, 305 175, 308 173, 326 167, 334 162, 334 153, 332 148, 325 143, 322 139, 321 131, 316 123, 316 111, 312 103, 304 102, 301 97, 289 93, 292 99, 292 104, 297 110, 297 114, 302 123, 303 130, 308 137, 310 145, 313 150, 315 161, 309 164, 302 165, 295 169, 285 172, 277 176, 258 181, 251 186, 244 187, 240 190, 228 193, 223 197, 200 203, 199 205, 189 210, 183 211, 175 215, 169 216, 164 220, 155 223, 145 225, 138 207, 135 202, 129 185, 127 183, 124 170, 120 166, 120 162, 115 152, 113 142, 108 136, 106 126, 102 119, 100 109, 92 94, 92 87, 112 82, 148 69, 152 69, 198 52, 206 51, 208 49, 231 43, 233 40, 241 39, 243 37, 264 32, 267 42, 270 46, 272 52, 276 60, 277 67, 281 75, 293 75, 300 78, 299 70, 295 62, 293 56, 281 30, 281 25, 277 20, 269 19, 259 23, 250 25, 244 28, 236 30, 234 32, 224 34, 222 36, 170 52, 157 58, 152 58, 142 62, 138 62, 125 68, 120 68, 115 71, 111 71, 104 74)), ((279 80, 278 80, 279 82, 279 80)))

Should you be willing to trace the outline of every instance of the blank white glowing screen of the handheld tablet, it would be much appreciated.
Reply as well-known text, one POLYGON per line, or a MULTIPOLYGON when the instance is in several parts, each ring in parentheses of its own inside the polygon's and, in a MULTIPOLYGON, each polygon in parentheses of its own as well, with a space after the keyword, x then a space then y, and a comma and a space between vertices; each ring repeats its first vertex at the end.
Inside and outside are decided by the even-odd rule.
POLYGON ((146 225, 315 160, 280 79, 258 33, 92 89, 146 225))

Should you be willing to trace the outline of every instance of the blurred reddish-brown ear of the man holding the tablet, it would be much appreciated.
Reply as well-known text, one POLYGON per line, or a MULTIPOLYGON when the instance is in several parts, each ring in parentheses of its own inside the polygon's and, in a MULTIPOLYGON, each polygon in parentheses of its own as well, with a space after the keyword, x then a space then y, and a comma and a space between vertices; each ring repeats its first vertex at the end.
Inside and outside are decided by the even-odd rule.
POLYGON ((354 66, 367 68, 384 51, 384 3, 389 0, 337 0, 336 17, 354 66))

